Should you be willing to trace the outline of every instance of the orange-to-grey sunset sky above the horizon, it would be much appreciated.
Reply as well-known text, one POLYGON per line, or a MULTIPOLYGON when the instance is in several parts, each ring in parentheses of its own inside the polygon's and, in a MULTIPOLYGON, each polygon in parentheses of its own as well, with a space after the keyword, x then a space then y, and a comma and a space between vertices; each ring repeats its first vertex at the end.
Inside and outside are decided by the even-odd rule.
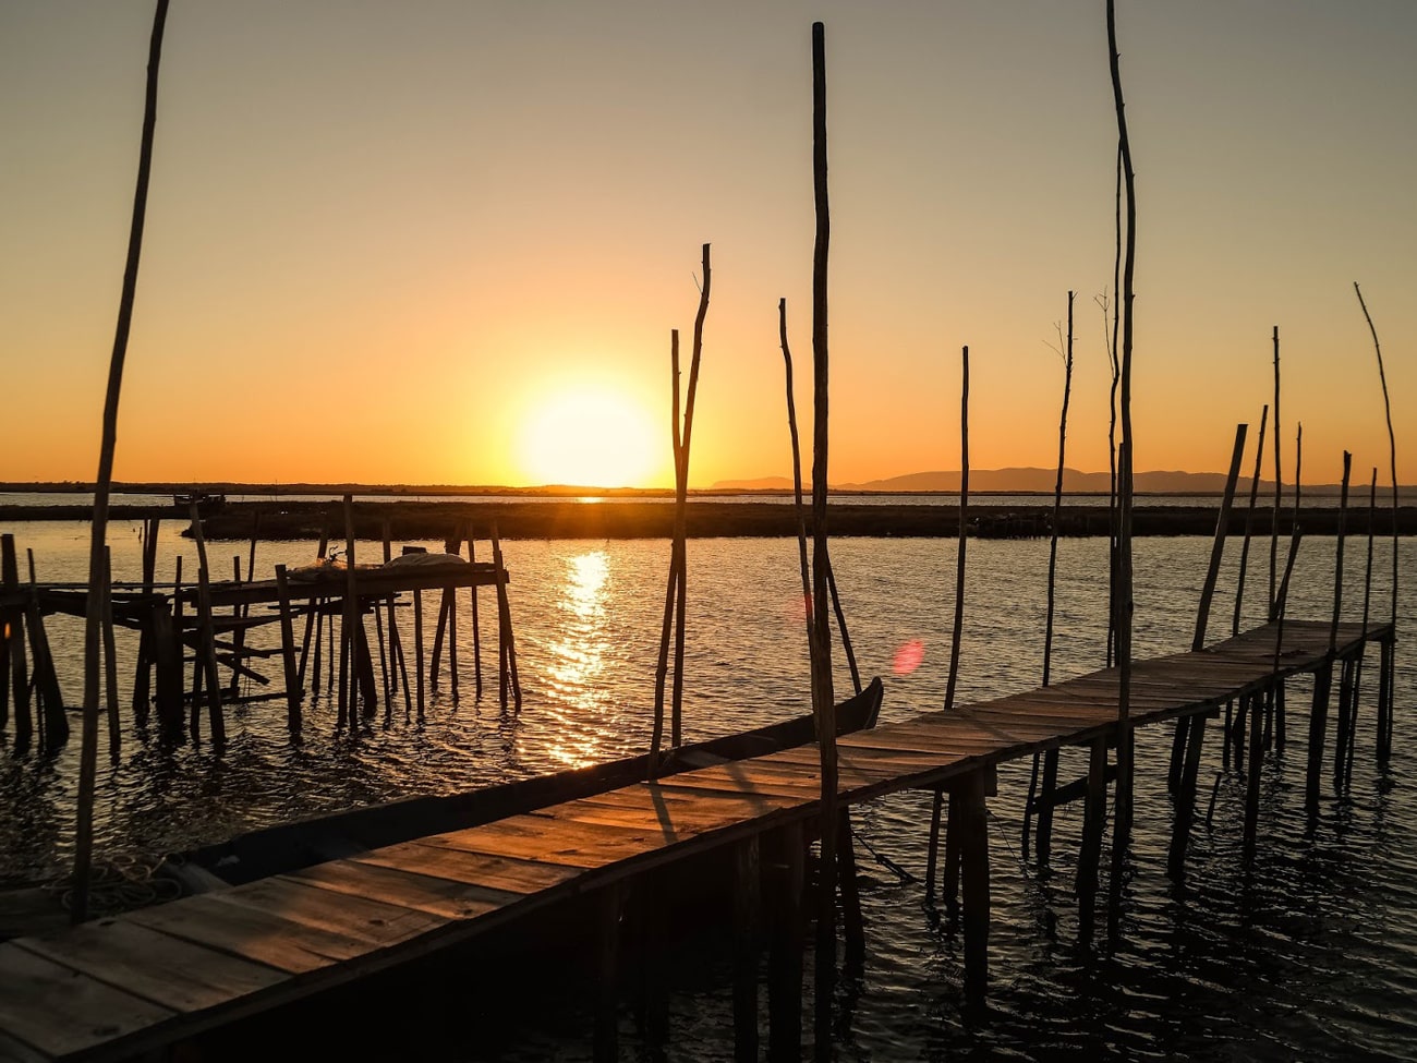
MULTIPOLYGON (((152 7, 0 7, 4 480, 98 468, 152 7)), ((174 0, 115 475, 667 483, 669 332, 687 350, 706 241, 691 483, 788 475, 777 302, 809 439, 813 20, 833 482, 958 468, 964 344, 971 463, 1053 465, 1070 288, 1068 465, 1105 469, 1101 0, 174 0)), ((1118 23, 1135 466, 1223 469, 1278 325, 1287 475, 1302 420, 1306 482, 1345 448, 1386 482, 1357 281, 1410 482, 1417 3, 1121 0, 1118 23)))

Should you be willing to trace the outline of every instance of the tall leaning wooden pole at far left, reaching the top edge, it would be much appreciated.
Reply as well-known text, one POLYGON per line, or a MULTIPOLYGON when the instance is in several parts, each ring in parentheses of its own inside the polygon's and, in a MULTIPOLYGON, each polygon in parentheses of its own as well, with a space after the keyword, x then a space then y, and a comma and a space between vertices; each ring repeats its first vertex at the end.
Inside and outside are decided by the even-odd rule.
POLYGON ((118 329, 109 359, 108 393, 103 400, 103 434, 99 446, 98 476, 94 483, 94 519, 89 537, 89 588, 84 624, 84 734, 79 751, 78 819, 74 846, 74 896, 69 914, 74 923, 88 918, 89 869, 94 846, 94 785, 98 772, 98 668, 99 626, 103 614, 103 546, 108 543, 108 499, 113 486, 113 452, 118 449, 118 400, 123 387, 123 361, 128 333, 133 322, 137 295, 137 262, 143 248, 143 221, 147 215, 147 180, 153 166, 153 133, 157 128, 157 67, 163 51, 167 0, 157 0, 153 33, 147 45, 147 89, 143 106, 143 133, 137 153, 137 187, 133 193, 133 223, 128 237, 128 265, 123 269, 123 293, 118 306, 118 329))

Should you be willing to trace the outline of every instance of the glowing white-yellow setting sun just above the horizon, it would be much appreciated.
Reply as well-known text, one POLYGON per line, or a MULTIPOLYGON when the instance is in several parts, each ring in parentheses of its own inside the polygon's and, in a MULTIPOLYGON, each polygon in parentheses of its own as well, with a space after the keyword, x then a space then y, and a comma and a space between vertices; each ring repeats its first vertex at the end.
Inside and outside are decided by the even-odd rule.
POLYGON ((604 388, 577 388, 538 403, 523 421, 519 459, 529 483, 650 486, 669 462, 667 428, 604 388))

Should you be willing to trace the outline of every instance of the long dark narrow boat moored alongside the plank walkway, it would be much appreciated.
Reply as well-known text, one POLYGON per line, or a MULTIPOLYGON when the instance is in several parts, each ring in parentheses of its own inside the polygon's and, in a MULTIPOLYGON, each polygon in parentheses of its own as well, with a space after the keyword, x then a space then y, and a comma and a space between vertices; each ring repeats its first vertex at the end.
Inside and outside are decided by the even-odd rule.
MULTIPOLYGON (((879 677, 836 706, 836 731, 876 726, 884 689, 879 677)), ((762 757, 815 736, 811 716, 798 716, 751 731, 679 746, 660 760, 657 778, 713 764, 762 757)), ((190 892, 255 882, 271 874, 343 859, 370 849, 490 823, 506 816, 604 794, 649 777, 649 754, 536 775, 446 797, 415 797, 350 812, 283 823, 228 842, 171 856, 162 872, 190 892)))

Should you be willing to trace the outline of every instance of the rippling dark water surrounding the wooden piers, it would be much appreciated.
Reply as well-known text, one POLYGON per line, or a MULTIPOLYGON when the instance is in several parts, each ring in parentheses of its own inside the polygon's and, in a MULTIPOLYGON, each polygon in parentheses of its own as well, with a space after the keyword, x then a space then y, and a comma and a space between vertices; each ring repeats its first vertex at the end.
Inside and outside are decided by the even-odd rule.
MULTIPOLYGON (((75 580, 86 566, 88 526, 13 524, 21 550, 35 553, 41 580, 75 580)), ((194 547, 173 523, 163 530, 159 577, 170 578, 194 547)), ((112 530, 115 575, 133 578, 137 527, 112 530)), ((441 544, 429 543, 435 549, 441 544)), ((374 553, 374 544, 360 549, 374 553)), ((519 716, 496 703, 496 683, 472 696, 466 600, 459 624, 465 679, 455 700, 446 679, 424 720, 398 706, 359 743, 336 736, 333 709, 307 706, 305 741, 293 746, 279 702, 228 714, 220 758, 191 744, 164 750, 128 736, 116 764, 99 780, 99 853, 152 862, 166 850, 221 840, 239 831, 419 792, 451 792, 509 777, 580 765, 642 751, 648 743, 653 662, 663 609, 667 543, 509 541, 512 608, 521 683, 519 716)), ((1386 615, 1389 544, 1379 543, 1374 614, 1386 615)), ((1136 652, 1185 649, 1210 543, 1144 539, 1136 543, 1136 652)), ((213 567, 247 546, 211 544, 213 567)), ((312 560, 313 543, 261 544, 258 573, 276 563, 312 560)), ((359 553, 359 550, 357 550, 359 553)), ((1362 609, 1366 541, 1350 543, 1345 617, 1362 609)), ((1216 595, 1212 634, 1230 628, 1234 561, 1216 595)), ((801 631, 796 547, 789 540, 689 543, 690 622, 686 737, 700 738, 806 710, 806 652, 801 631)), ((833 564, 863 672, 886 680, 883 719, 904 719, 942 703, 954 601, 954 544, 939 540, 842 540, 833 564), (897 675, 897 651, 924 645, 914 672, 897 675)), ((1403 540, 1404 601, 1400 626, 1413 626, 1417 543, 1403 540)), ((1332 612, 1333 541, 1304 543, 1291 615, 1332 612)), ((1041 672, 1047 543, 971 541, 964 666, 958 699, 968 702, 1034 686, 1041 672)), ((1056 676, 1097 668, 1102 656, 1105 541, 1067 540, 1058 550, 1056 676)), ((1268 543, 1251 553, 1246 600, 1260 604, 1268 580, 1268 543)), ((492 611, 485 608, 487 626, 492 611)), ((429 622, 432 605, 429 602, 429 622)), ((1258 617, 1247 609, 1247 619, 1258 617)), ((68 700, 79 700, 77 621, 55 618, 51 641, 61 658, 68 700)), ((407 628, 407 622, 404 624, 407 628)), ((122 635, 122 634, 120 634, 122 635)), ((129 660, 135 646, 123 641, 129 660)), ((485 648, 489 676, 496 652, 485 648)), ((837 689, 849 679, 837 653, 837 689)), ((130 666, 120 668, 126 675, 130 666)), ((126 680, 125 680, 126 683, 126 680)), ((1353 787, 1328 798, 1316 825, 1302 812, 1304 704, 1295 706, 1285 760, 1265 778, 1260 850, 1253 874, 1240 867, 1243 787, 1219 781, 1212 730, 1202 791, 1214 787, 1209 826, 1196 828, 1186 889, 1165 874, 1170 802, 1163 792, 1169 738, 1139 736, 1135 872, 1115 948, 1080 950, 1071 872, 1080 808, 1057 825, 1054 870, 1043 874, 1019 856, 1027 764, 1000 771, 990 802, 995 920, 990 1009, 968 1019, 959 1008, 962 943, 922 903, 920 876, 928 799, 903 794, 856 816, 866 874, 869 927, 863 978, 840 994, 840 1060, 971 1059, 1196 1059, 1383 1060, 1417 1059, 1417 802, 1410 795, 1410 713, 1417 676, 1399 648, 1396 753, 1386 774, 1372 757, 1372 689, 1360 721, 1353 787)), ((1373 686, 1373 680, 1367 682, 1373 686)), ((4 736, 6 740, 9 736, 4 736)), ((51 763, 17 758, 0 747, 0 874, 34 879, 62 872, 71 856, 77 746, 51 763)), ((1076 753, 1076 751, 1070 751, 1076 753)), ((101 758, 106 760, 106 758, 101 758)), ((1081 771, 1081 757, 1066 770, 1081 771)), ((669 1059, 731 1057, 728 957, 706 943, 669 972, 669 1059)), ((373 1012, 354 1057, 472 1060, 588 1059, 592 996, 567 975, 531 982, 536 1003, 516 989, 516 971, 466 972, 465 1022, 444 1023, 418 1052, 376 1049, 404 1036, 402 1011, 373 1012), (482 981, 478 981, 478 979, 482 981), (500 989, 497 982, 504 982, 500 989), (510 986, 510 988, 509 988, 510 986), (451 1025, 451 1029, 448 1028, 451 1025), (378 1036, 376 1036, 378 1035, 378 1036), (363 1052, 363 1054, 360 1054, 363 1052)), ((811 978, 809 978, 811 984, 811 978)), ((427 1028, 427 1015, 419 1025, 427 1028)), ((811 1023, 808 1023, 811 1030, 811 1023)), ((410 1036, 412 1036, 410 1033, 410 1036)), ((622 1018, 626 1057, 636 1028, 622 1018)))

